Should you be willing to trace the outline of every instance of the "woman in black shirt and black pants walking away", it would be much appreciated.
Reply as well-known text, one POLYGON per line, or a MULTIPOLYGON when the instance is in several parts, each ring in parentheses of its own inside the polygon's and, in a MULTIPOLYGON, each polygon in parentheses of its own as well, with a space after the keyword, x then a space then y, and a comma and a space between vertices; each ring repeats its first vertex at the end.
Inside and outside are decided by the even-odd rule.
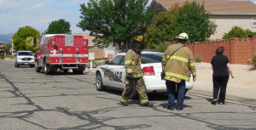
POLYGON ((230 60, 224 54, 224 47, 218 47, 215 52, 215 56, 212 57, 212 82, 213 82, 213 100, 212 105, 225 105, 225 95, 227 83, 230 75, 234 78, 230 60), (219 91, 219 94, 218 94, 219 91))

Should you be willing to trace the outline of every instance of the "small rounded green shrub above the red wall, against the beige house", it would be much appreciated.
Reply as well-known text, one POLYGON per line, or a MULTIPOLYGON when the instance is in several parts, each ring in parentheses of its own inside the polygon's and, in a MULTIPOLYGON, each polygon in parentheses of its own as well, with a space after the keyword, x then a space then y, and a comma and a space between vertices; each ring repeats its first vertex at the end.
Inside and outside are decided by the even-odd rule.
POLYGON ((232 37, 246 38, 248 37, 247 31, 243 30, 239 26, 233 26, 228 33, 224 33, 223 39, 230 39, 232 37))

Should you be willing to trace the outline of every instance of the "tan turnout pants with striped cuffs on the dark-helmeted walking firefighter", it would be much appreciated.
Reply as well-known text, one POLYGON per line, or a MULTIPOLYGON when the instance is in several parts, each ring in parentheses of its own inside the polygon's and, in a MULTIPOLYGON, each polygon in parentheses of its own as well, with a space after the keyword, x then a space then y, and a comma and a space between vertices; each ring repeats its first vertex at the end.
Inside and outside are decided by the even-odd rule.
POLYGON ((148 95, 144 84, 143 77, 134 79, 125 79, 125 90, 122 93, 121 101, 128 101, 133 89, 136 88, 141 104, 148 102, 148 95))

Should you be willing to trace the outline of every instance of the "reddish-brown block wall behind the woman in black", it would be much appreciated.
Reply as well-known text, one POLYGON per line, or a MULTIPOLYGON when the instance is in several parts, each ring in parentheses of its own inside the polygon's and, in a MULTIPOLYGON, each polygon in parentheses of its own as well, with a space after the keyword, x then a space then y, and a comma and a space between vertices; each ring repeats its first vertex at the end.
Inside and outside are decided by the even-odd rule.
MULTIPOLYGON (((172 44, 173 42, 166 42, 172 44)), ((218 46, 224 47, 224 55, 230 59, 231 64, 246 65, 247 59, 256 54, 256 37, 244 39, 231 38, 230 40, 216 40, 211 42, 193 42, 186 44, 194 57, 200 56, 202 62, 210 63, 218 46)))

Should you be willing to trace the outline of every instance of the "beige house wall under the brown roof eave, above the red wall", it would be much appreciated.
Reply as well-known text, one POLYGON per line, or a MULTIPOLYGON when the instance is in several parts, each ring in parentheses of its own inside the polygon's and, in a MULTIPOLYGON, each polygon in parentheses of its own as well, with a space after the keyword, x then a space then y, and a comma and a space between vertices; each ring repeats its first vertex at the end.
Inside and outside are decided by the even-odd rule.
POLYGON ((244 30, 249 29, 250 31, 256 32, 256 26, 253 26, 253 17, 249 15, 212 15, 210 20, 215 21, 215 24, 218 25, 214 35, 210 39, 222 39, 224 33, 227 33, 231 30, 233 26, 239 26, 244 30))

